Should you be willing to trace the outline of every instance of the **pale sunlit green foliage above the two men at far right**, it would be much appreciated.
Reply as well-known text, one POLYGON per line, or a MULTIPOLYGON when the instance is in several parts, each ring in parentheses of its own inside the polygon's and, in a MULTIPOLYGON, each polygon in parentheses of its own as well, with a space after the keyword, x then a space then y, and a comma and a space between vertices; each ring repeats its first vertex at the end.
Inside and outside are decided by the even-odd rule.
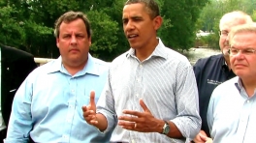
POLYGON ((256 14, 254 13, 255 4, 256 0, 210 0, 200 14, 197 21, 197 29, 212 31, 214 35, 210 35, 202 41, 208 44, 210 48, 219 49, 218 30, 221 16, 232 11, 243 11, 247 14, 251 14, 252 18, 256 20, 256 14))

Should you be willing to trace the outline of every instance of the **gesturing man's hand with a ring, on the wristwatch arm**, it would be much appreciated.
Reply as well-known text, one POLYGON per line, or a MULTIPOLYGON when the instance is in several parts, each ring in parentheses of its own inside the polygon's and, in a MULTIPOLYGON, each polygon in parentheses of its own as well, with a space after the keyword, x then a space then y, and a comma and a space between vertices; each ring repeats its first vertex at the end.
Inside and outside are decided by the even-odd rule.
POLYGON ((118 126, 123 129, 136 130, 140 132, 160 132, 162 129, 161 121, 154 118, 150 110, 144 104, 144 100, 140 100, 140 104, 144 109, 144 112, 138 112, 133 110, 123 110, 124 114, 132 116, 119 116, 118 126), (158 130, 160 129, 160 130, 158 130))

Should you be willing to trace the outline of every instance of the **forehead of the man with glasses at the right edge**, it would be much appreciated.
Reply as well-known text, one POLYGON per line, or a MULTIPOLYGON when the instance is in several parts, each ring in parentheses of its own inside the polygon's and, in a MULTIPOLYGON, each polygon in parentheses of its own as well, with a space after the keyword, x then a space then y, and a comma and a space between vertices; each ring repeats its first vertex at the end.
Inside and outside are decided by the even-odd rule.
POLYGON ((255 47, 256 48, 256 33, 255 32, 240 32, 237 33, 231 40, 232 46, 239 47, 255 47))

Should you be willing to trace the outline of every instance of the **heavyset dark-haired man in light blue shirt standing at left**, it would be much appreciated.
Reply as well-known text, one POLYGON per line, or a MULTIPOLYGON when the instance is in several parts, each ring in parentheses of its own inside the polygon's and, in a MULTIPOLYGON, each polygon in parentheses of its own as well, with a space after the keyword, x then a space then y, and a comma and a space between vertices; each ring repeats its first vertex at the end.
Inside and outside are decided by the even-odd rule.
POLYGON ((106 83, 108 63, 93 58, 89 21, 85 14, 68 12, 55 23, 60 57, 31 72, 16 92, 5 143, 109 142, 82 117, 81 106, 91 91, 98 100, 106 83))

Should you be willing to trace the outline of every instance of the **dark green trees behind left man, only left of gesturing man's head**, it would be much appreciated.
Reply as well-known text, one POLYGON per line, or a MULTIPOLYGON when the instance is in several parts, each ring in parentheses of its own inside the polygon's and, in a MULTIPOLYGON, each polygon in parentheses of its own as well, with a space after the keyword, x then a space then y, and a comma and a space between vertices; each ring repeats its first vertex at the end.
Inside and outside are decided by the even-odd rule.
POLYGON ((57 58, 59 52, 53 37, 54 22, 61 14, 70 10, 80 11, 90 16, 92 27, 97 28, 95 32, 101 34, 93 35, 92 55, 110 60, 105 53, 110 53, 116 48, 115 35, 118 26, 104 13, 104 9, 101 10, 110 4, 107 1, 84 3, 82 0, 9 0, 8 3, 3 3, 0 9, 6 18, 1 18, 0 21, 2 33, 6 34, 0 41, 29 51, 35 56, 57 58), (99 11, 93 11, 92 6, 97 6, 99 11), (108 33, 112 34, 112 37, 108 33))

